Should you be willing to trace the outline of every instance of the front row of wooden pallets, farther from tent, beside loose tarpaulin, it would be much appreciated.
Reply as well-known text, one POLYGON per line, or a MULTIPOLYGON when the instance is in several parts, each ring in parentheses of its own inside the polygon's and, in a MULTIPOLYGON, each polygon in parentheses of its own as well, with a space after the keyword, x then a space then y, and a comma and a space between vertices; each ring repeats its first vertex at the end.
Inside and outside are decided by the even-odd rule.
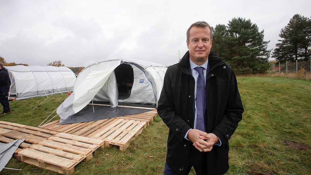
POLYGON ((0 121, 0 142, 25 139, 15 151, 20 161, 58 173, 72 174, 74 166, 93 157, 103 140, 0 121))

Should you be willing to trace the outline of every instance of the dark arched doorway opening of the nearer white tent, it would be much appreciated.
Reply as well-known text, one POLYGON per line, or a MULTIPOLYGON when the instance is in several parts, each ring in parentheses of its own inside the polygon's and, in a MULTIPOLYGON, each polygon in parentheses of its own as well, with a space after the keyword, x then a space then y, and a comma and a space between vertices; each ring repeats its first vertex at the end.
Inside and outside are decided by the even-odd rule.
POLYGON ((130 64, 122 63, 116 69, 114 69, 114 73, 118 85, 118 99, 127 99, 131 95, 131 90, 134 82, 133 68, 130 64))

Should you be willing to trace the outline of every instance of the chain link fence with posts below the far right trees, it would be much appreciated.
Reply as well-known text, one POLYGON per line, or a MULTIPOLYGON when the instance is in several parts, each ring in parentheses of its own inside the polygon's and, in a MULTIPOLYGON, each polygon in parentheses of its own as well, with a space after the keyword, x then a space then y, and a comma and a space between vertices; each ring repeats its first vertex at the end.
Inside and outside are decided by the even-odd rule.
POLYGON ((273 63, 270 66, 269 72, 280 72, 280 73, 311 73, 311 61, 296 61, 286 63, 273 63))

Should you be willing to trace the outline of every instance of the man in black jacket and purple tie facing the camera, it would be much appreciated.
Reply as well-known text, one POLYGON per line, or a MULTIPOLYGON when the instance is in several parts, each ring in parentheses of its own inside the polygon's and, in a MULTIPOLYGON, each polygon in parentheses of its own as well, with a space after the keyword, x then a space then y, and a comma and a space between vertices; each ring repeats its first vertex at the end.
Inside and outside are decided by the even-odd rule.
POLYGON ((211 46, 211 26, 193 23, 187 31, 189 51, 166 71, 157 109, 169 127, 165 175, 188 174, 192 167, 197 175, 229 169, 228 140, 244 109, 232 68, 211 46))

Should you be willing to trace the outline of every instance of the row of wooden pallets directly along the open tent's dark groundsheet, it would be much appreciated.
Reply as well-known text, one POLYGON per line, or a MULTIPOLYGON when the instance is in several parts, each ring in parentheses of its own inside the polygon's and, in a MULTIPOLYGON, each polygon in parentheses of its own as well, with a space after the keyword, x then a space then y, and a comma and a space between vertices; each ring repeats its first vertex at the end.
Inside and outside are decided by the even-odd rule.
POLYGON ((105 146, 117 145, 120 150, 125 150, 130 141, 137 137, 156 115, 157 111, 152 110, 141 114, 65 125, 58 125, 57 120, 39 127, 104 140, 105 146))

